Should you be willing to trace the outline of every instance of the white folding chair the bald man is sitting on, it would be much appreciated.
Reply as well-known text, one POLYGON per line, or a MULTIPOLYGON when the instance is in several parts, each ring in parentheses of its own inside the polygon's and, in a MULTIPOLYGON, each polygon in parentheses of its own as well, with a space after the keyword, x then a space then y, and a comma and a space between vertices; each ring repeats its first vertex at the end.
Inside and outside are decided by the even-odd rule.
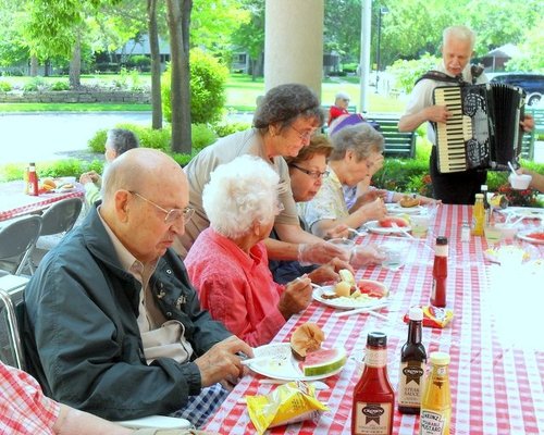
MULTIPOLYGON (((8 293, 0 288, 0 360, 20 370, 26 370, 20 333, 20 325, 23 324, 25 315, 23 289, 8 293), (14 300, 16 300, 15 307, 14 300)), ((149 415, 115 423, 129 428, 177 430, 191 426, 188 420, 164 415, 149 415)))

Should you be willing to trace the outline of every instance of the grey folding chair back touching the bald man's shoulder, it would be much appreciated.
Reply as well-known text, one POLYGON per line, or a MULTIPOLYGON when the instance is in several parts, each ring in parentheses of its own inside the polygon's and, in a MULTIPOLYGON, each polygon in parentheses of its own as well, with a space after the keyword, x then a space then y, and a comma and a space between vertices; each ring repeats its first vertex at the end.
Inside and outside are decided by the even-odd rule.
POLYGON ((60 240, 60 236, 72 229, 82 212, 83 201, 79 198, 67 198, 53 203, 41 215, 41 232, 36 244, 35 252, 39 263, 41 257, 53 248, 60 240))

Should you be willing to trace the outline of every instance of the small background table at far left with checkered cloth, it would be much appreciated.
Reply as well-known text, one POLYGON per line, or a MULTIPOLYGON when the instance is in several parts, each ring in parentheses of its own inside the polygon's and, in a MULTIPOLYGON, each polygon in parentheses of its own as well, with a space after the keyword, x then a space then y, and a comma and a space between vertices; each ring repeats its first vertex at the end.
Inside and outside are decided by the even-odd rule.
POLYGON ((0 222, 24 214, 39 213, 54 202, 66 198, 85 197, 84 187, 75 183, 70 190, 51 190, 37 197, 24 192, 24 182, 15 181, 0 184, 0 222))

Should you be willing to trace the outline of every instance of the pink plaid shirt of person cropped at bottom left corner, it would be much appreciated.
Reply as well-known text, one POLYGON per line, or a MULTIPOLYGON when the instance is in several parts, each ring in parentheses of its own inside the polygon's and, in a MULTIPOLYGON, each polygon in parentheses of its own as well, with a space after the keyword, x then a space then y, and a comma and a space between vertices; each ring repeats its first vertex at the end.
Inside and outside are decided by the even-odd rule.
POLYGON ((0 434, 54 434, 59 412, 34 377, 0 361, 0 434))

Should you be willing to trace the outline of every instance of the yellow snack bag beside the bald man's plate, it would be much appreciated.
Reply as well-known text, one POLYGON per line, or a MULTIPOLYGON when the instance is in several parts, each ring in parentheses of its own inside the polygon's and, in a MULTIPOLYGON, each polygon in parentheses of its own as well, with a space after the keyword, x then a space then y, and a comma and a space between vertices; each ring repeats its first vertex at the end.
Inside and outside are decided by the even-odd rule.
POLYGON ((246 400, 259 435, 270 427, 317 420, 329 410, 316 398, 316 388, 302 381, 283 384, 268 395, 246 396, 246 400))

